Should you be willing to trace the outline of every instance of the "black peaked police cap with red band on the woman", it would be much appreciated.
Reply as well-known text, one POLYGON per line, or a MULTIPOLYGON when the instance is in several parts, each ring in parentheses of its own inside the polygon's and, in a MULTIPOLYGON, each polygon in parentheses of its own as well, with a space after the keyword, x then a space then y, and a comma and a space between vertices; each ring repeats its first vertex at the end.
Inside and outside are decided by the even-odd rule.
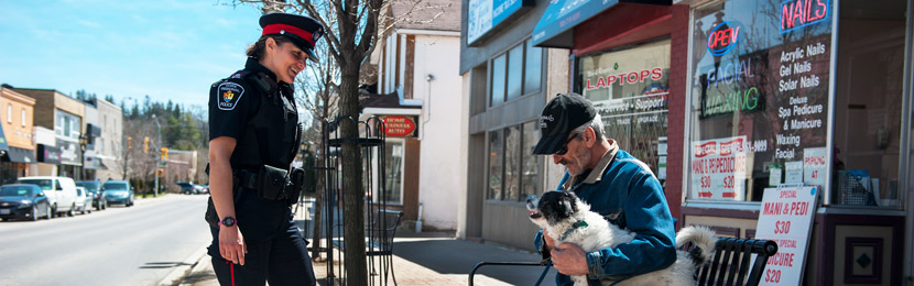
POLYGON ((289 13, 270 13, 260 18, 262 35, 281 34, 292 41, 302 51, 317 61, 314 45, 324 35, 324 26, 311 16, 289 13))

